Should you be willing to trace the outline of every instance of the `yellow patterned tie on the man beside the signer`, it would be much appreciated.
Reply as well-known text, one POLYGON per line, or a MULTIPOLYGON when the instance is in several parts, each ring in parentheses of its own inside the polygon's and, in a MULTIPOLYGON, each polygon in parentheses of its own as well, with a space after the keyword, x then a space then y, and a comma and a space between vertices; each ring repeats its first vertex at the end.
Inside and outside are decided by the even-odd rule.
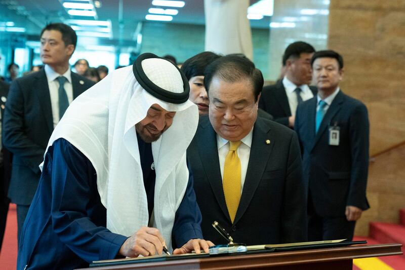
POLYGON ((242 143, 241 141, 229 141, 230 147, 224 164, 224 179, 222 185, 224 188, 225 202, 228 207, 229 216, 233 223, 236 210, 239 206, 241 190, 241 169, 240 160, 236 149, 242 143))

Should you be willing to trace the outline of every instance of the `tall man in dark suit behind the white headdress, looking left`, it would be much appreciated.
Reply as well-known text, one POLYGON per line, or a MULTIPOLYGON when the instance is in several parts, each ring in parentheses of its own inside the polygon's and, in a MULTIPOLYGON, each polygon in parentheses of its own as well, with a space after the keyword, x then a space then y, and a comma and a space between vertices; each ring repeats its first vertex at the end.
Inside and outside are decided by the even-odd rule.
POLYGON ((45 67, 13 81, 3 121, 4 147, 13 153, 9 198, 17 204, 18 237, 41 176, 39 164, 53 129, 71 101, 93 82, 71 72, 77 36, 63 23, 41 32, 45 67))

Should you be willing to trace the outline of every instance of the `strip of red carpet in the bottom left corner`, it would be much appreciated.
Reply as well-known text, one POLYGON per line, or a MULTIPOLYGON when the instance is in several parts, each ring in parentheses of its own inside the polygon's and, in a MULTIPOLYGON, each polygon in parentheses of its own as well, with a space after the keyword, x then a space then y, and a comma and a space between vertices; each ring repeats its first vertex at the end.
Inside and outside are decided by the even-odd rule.
POLYGON ((16 269, 17 250, 17 210, 15 204, 10 204, 2 252, 0 253, 0 268, 2 270, 16 269))

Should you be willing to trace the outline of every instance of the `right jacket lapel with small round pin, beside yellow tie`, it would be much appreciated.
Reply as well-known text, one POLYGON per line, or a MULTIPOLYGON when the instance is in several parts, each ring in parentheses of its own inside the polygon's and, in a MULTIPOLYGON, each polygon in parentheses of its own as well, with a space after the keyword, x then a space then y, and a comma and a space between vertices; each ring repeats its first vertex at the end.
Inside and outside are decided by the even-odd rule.
POLYGON ((270 127, 267 126, 263 120, 258 118, 253 129, 248 170, 246 172, 244 189, 240 197, 234 223, 243 216, 248 208, 260 179, 262 178, 274 143, 277 142, 274 142, 274 138, 270 134, 270 127), (270 140, 270 144, 266 144, 266 140, 270 140))

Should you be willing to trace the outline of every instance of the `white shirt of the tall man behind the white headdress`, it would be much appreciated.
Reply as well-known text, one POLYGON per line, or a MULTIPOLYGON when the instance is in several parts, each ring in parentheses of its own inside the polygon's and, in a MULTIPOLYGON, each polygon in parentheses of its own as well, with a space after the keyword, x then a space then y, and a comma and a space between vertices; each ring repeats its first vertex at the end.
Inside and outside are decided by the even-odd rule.
POLYGON ((57 78, 59 76, 64 76, 67 81, 64 84, 64 88, 67 95, 67 100, 69 104, 73 101, 73 87, 72 87, 72 77, 70 68, 66 70, 65 73, 59 74, 55 72, 49 65, 45 65, 45 73, 47 74, 48 86, 49 86, 49 95, 51 96, 51 106, 52 106, 52 118, 54 128, 58 124, 59 117, 59 82, 57 78))

